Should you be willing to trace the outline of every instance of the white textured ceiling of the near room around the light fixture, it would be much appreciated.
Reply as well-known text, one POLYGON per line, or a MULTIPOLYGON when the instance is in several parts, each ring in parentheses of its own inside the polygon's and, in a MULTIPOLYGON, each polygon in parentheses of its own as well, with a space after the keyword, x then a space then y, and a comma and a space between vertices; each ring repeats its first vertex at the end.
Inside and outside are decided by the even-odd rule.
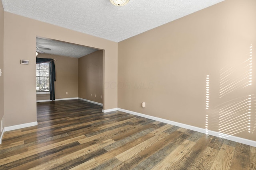
MULTIPOLYGON (((2 0, 2 3, 6 12, 119 42, 222 1, 130 0, 122 7, 109 0, 2 0)), ((52 47, 50 52, 54 50, 52 47)))

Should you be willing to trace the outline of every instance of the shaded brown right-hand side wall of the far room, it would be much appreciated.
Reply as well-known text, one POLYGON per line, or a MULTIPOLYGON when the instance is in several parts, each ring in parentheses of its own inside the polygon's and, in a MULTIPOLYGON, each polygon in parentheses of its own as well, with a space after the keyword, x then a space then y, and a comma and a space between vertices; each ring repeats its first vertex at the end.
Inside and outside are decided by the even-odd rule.
POLYGON ((102 55, 98 50, 78 59, 79 98, 102 103, 102 55))

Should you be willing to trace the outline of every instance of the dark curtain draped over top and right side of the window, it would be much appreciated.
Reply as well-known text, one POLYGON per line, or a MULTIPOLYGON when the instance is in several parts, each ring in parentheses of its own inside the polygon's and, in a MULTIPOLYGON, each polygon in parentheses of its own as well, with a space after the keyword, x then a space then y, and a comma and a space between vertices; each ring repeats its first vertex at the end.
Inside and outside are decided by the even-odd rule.
POLYGON ((55 100, 55 90, 54 90, 54 82, 56 82, 55 77, 55 64, 53 59, 43 59, 36 57, 36 63, 46 63, 50 62, 50 100, 55 100))

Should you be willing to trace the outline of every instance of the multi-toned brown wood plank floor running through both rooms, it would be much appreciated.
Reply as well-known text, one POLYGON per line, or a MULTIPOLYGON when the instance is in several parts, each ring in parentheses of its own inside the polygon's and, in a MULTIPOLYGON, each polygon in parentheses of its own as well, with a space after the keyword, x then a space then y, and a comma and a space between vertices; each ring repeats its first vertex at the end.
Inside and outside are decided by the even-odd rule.
POLYGON ((0 169, 256 170, 256 148, 82 100, 38 103, 38 126, 4 133, 0 169))

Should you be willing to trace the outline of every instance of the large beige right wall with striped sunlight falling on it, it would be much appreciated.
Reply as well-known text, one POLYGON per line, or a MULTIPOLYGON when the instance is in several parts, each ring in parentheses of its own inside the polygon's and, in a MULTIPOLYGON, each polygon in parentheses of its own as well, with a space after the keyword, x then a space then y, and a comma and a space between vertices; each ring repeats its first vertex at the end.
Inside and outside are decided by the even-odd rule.
POLYGON ((118 107, 256 141, 255 9, 225 0, 119 42, 118 107))

